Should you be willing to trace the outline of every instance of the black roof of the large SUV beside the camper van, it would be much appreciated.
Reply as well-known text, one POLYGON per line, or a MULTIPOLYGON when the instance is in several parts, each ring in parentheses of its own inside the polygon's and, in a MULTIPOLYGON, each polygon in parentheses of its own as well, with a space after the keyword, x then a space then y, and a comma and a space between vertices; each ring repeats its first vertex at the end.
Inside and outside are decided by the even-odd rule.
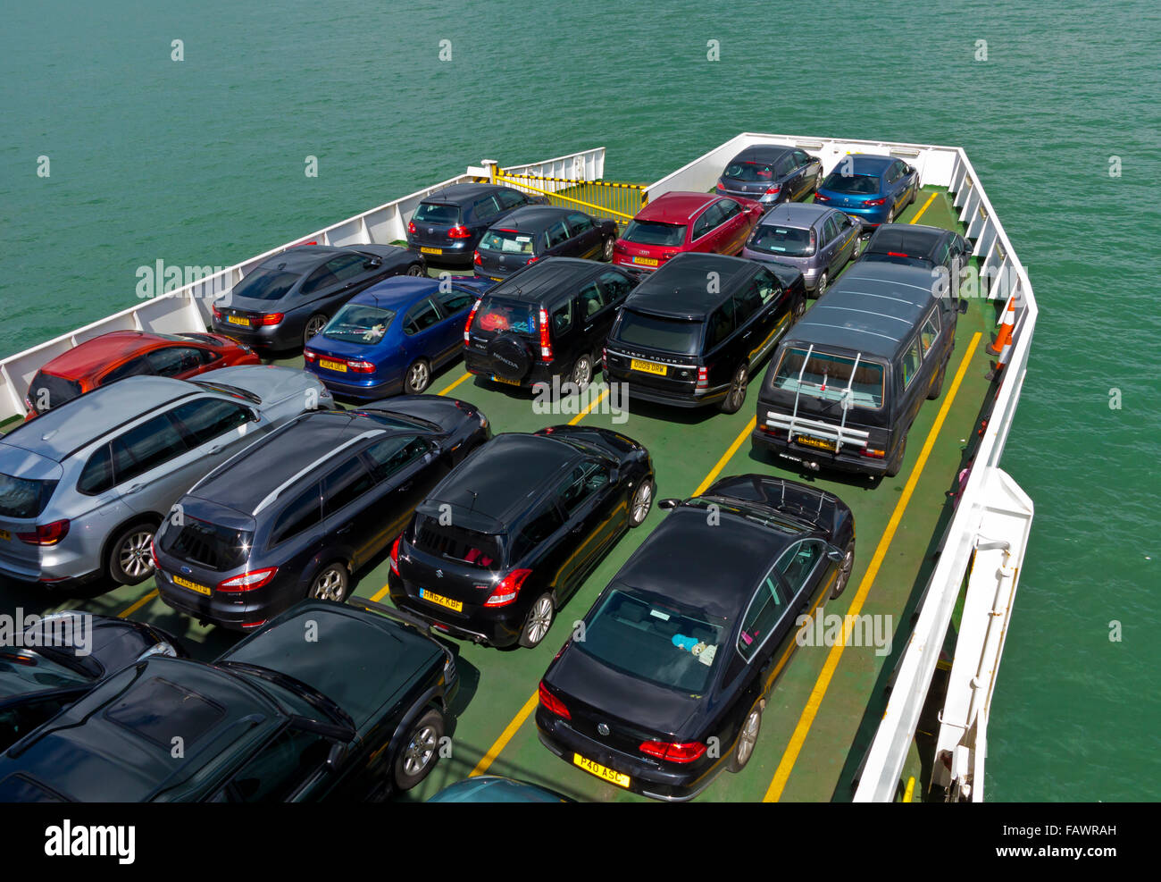
POLYGON ((752 278, 759 264, 740 257, 685 251, 633 289, 625 308, 675 318, 705 318, 729 300, 737 282, 752 278), (709 291, 708 273, 720 285, 709 291))

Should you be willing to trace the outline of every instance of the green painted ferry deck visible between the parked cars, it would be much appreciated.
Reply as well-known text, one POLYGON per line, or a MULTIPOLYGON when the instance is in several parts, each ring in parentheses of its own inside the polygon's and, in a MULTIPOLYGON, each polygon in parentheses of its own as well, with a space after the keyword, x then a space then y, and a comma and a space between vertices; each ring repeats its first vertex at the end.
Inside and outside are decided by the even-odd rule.
MULTIPOLYGON (((900 220, 910 221, 921 211, 922 223, 959 229, 951 201, 942 189, 924 189, 900 220)), ((733 416, 716 410, 695 414, 666 410, 634 404, 630 400, 627 422, 614 423, 612 414, 599 413, 600 407, 582 417, 586 424, 615 426, 649 449, 657 473, 656 499, 688 496, 711 476, 745 472, 783 474, 838 494, 854 511, 856 562, 850 586, 839 600, 827 604, 824 612, 843 615, 854 605, 858 609, 853 611, 861 614, 889 615, 895 624, 894 645, 887 655, 877 655, 873 647, 856 646, 841 652, 828 647, 800 647, 791 654, 772 691, 750 763, 740 774, 722 774, 701 799, 850 798, 858 766, 882 716, 885 687, 906 645, 910 616, 926 585, 935 562, 932 554, 950 519, 952 509, 947 493, 954 488, 957 474, 971 456, 978 421, 990 406, 994 388, 985 379, 989 368, 985 346, 990 339, 995 316, 995 306, 981 300, 972 300, 968 313, 960 316, 943 393, 920 411, 909 437, 903 469, 895 479, 803 476, 786 472, 764 454, 755 453, 749 431, 765 366, 752 378, 747 404, 733 416), (885 542, 888 531, 892 536, 885 542), (873 559, 878 569, 873 580, 866 580, 873 559)), ((527 393, 511 393, 470 378, 460 364, 437 377, 431 392, 453 394, 479 406, 498 432, 533 431, 577 416, 536 414, 527 393)), ((440 760, 428 779, 404 798, 424 799, 484 767, 489 773, 539 783, 578 799, 637 798, 549 753, 536 738, 531 711, 540 675, 568 637, 570 624, 583 617, 613 573, 662 516, 655 507, 647 523, 612 550, 584 588, 560 610, 553 632, 536 650, 497 651, 460 644, 462 687, 450 730, 452 756, 440 760)), ((374 567, 355 574, 355 594, 385 602, 387 572, 384 554, 374 567)), ((36 589, 0 589, 0 607, 17 605, 26 612, 72 607, 151 621, 186 638, 195 654, 205 659, 214 658, 237 639, 232 633, 202 628, 171 610, 157 598, 152 582, 87 600, 50 600, 36 589)), ((954 640, 949 639, 947 646, 953 647, 954 640)), ((939 682, 939 673, 936 682, 939 682)), ((929 711, 921 720, 917 736, 918 744, 924 746, 929 745, 929 739, 922 732, 935 731, 931 727, 933 711, 930 708, 929 711)), ((929 746, 925 755, 930 756, 929 746)), ((920 751, 913 748, 900 782, 900 796, 907 777, 914 775, 913 799, 923 798, 930 773, 925 763, 921 763, 920 751)))

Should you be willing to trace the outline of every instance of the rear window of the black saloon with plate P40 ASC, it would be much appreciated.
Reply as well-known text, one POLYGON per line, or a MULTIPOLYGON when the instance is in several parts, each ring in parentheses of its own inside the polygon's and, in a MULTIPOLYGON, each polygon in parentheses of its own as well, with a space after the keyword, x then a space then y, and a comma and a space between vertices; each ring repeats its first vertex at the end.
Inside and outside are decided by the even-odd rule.
POLYGON ((706 691, 729 629, 726 619, 616 586, 574 645, 611 668, 691 695, 706 691))

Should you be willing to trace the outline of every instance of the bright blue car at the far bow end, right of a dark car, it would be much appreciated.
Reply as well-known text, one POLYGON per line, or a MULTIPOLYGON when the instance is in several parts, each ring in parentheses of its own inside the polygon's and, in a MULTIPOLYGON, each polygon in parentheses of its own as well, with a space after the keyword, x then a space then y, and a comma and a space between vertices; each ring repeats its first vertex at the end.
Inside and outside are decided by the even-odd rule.
POLYGON ((899 217, 918 192, 914 166, 892 156, 854 153, 838 160, 814 201, 858 217, 864 227, 878 227, 899 217))

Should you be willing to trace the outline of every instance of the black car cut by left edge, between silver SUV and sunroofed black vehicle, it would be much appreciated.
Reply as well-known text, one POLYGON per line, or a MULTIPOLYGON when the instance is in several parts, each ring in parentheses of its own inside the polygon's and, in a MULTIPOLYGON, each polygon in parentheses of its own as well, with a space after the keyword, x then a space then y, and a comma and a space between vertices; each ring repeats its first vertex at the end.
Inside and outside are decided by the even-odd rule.
POLYGON ((140 622, 64 610, 38 617, 0 648, 0 751, 87 695, 93 684, 150 655, 185 658, 176 638, 140 622))

